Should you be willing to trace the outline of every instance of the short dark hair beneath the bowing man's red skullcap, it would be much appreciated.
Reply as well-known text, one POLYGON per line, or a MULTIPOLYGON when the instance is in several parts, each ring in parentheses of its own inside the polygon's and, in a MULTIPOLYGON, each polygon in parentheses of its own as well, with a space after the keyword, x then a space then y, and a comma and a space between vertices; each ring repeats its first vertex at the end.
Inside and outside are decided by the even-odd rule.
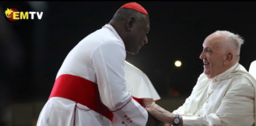
POLYGON ((141 20, 141 19, 144 19, 145 17, 147 17, 147 15, 145 15, 144 13, 140 13, 134 9, 122 8, 122 9, 118 9, 116 11, 116 13, 112 19, 127 20, 129 17, 132 17, 132 16, 134 16, 135 18, 137 17, 137 20, 141 20))

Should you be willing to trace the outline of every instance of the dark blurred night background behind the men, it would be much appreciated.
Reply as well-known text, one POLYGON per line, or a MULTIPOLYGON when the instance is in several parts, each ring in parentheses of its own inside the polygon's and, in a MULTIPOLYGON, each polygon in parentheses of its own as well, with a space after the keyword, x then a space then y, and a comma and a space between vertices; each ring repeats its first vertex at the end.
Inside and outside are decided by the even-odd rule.
MULTIPOLYGON (((35 125, 66 55, 127 2, 134 1, 0 2, 0 125, 35 125), (43 17, 9 24, 8 6, 43 17)), ((165 109, 177 109, 190 95, 203 72, 202 43, 214 31, 245 39, 239 63, 247 70, 256 60, 256 2, 136 2, 149 13, 149 43, 126 61, 149 76, 165 109)))

